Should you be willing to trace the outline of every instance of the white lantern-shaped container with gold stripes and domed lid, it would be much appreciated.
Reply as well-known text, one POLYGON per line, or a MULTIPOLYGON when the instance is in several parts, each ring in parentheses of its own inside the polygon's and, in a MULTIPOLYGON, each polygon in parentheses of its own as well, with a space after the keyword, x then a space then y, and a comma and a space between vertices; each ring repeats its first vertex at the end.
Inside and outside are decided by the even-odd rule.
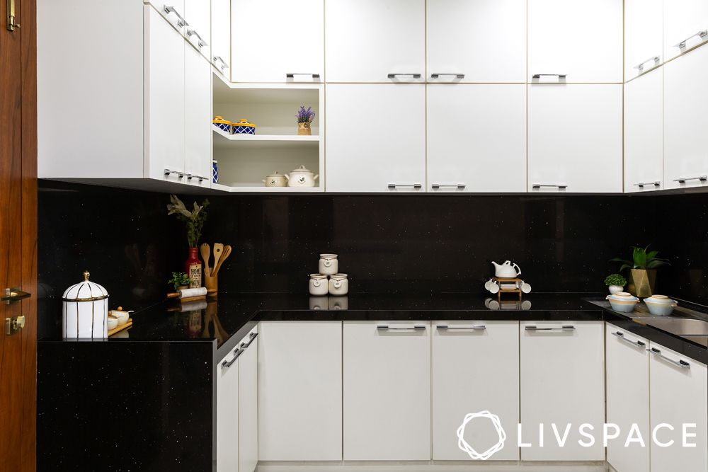
POLYGON ((84 282, 64 292, 62 305, 64 338, 108 338, 108 292, 89 282, 89 272, 84 272, 84 282))

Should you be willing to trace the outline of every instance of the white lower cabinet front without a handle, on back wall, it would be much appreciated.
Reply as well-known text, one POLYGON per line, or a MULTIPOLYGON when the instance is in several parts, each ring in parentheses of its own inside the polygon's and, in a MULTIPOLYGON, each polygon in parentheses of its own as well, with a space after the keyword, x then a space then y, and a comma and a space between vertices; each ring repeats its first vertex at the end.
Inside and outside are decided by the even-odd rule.
POLYGON ((341 461, 341 321, 262 321, 258 459, 341 461))

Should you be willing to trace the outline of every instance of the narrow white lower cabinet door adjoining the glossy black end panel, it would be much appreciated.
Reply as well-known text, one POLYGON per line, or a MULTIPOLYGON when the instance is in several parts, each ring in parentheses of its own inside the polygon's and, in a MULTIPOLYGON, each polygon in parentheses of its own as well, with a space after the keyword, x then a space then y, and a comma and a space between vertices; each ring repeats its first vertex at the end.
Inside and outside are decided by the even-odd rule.
POLYGON ((239 470, 239 350, 217 364, 217 472, 239 470), (230 364, 230 365, 229 365, 230 364))

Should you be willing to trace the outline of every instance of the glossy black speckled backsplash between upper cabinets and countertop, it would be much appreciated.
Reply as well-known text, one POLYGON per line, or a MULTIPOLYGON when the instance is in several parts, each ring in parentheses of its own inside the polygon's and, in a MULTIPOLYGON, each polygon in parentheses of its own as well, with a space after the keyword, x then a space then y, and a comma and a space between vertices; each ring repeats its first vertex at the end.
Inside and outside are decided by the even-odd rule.
MULTIPOLYGON (((187 195, 188 205, 202 197, 187 195)), ((337 253, 351 292, 480 292, 513 260, 534 292, 601 292, 615 255, 653 243, 658 290, 708 304, 708 195, 229 195, 209 197, 202 241, 231 244, 219 291, 307 292, 337 253)), ((40 180, 40 337, 84 269, 111 307, 160 301, 187 255, 168 195, 40 180), (48 299, 47 299, 48 298, 48 299)))

